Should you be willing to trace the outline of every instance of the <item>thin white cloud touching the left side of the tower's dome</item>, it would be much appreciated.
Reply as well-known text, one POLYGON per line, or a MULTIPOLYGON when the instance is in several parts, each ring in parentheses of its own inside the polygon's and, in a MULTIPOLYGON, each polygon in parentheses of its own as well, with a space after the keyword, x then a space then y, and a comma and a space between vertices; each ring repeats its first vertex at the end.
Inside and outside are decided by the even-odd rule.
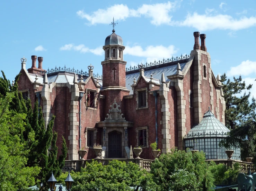
POLYGON ((95 49, 89 49, 84 44, 79 44, 77 46, 75 46, 74 44, 65 44, 64 46, 62 46, 60 48, 60 50, 74 50, 74 51, 79 51, 81 53, 91 52, 91 53, 93 53, 95 55, 99 55, 99 56, 104 54, 104 50, 102 49, 102 47, 97 47, 95 49))

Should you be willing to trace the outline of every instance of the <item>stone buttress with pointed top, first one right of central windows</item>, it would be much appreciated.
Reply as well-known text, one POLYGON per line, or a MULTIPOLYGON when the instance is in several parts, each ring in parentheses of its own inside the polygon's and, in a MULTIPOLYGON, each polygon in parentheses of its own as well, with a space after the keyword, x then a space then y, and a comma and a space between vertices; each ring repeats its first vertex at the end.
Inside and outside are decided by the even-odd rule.
MULTIPOLYGON (((159 88, 159 95, 161 99, 161 112, 162 112, 162 120, 160 124, 162 125, 162 153, 167 153, 168 149, 170 149, 170 112, 169 112, 169 101, 168 101, 168 92, 169 92, 169 83, 165 82, 164 73, 162 73, 161 77, 161 85, 159 88)), ((157 132, 156 132, 157 133, 157 132)))

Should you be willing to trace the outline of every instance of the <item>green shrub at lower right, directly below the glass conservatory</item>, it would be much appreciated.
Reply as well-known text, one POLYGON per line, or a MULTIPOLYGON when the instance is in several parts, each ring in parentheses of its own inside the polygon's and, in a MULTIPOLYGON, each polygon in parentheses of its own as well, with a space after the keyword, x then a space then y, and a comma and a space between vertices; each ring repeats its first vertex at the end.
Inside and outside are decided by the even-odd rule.
POLYGON ((217 165, 214 161, 211 161, 209 164, 209 169, 213 174, 215 185, 237 184, 237 175, 240 171, 239 163, 235 163, 231 169, 225 164, 217 165))

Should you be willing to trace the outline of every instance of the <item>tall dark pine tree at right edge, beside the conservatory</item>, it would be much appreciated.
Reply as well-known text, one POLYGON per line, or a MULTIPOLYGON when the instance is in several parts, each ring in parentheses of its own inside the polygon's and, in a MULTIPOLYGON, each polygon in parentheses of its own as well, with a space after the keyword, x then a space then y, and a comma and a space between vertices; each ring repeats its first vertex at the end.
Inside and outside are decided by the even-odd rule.
POLYGON ((221 145, 226 148, 235 147, 240 143, 241 159, 255 155, 254 153, 254 137, 256 129, 253 128, 255 122, 256 103, 253 98, 249 102, 250 90, 252 85, 245 85, 241 76, 239 78, 233 77, 233 81, 227 79, 224 73, 221 76, 223 84, 223 94, 226 101, 225 110, 225 124, 231 131, 226 140, 221 141, 221 145), (244 93, 243 93, 244 92, 244 93), (241 94, 240 97, 237 94, 241 94))

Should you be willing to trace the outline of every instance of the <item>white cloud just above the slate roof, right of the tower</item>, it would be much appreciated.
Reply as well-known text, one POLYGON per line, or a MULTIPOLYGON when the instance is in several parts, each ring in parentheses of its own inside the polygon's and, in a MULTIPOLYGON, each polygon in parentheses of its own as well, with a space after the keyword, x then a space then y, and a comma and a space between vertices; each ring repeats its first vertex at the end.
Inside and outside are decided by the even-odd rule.
POLYGON ((147 62, 152 62, 153 60, 162 60, 163 58, 171 58, 177 53, 177 49, 170 45, 168 47, 160 46, 148 46, 144 50, 141 46, 126 46, 124 54, 129 54, 137 57, 147 58, 147 62))

